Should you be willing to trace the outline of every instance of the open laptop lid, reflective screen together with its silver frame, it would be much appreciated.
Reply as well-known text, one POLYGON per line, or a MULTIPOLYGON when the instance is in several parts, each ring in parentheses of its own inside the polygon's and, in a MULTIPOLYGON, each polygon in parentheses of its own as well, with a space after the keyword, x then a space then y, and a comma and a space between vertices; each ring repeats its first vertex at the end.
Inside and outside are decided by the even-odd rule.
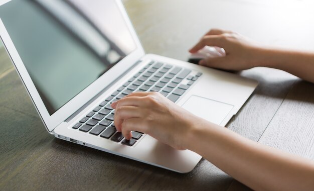
POLYGON ((0 37, 49 132, 144 55, 120 0, 0 5, 0 37))

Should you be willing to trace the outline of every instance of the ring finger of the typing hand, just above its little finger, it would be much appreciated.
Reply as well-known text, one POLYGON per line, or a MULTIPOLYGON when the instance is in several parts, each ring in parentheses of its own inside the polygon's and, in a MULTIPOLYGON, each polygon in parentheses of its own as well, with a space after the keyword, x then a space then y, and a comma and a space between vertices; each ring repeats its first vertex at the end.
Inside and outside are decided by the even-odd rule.
POLYGON ((129 118, 138 118, 140 117, 140 110, 138 107, 134 106, 122 106, 117 107, 114 114, 114 125, 118 132, 121 132, 121 125, 124 120, 129 118))

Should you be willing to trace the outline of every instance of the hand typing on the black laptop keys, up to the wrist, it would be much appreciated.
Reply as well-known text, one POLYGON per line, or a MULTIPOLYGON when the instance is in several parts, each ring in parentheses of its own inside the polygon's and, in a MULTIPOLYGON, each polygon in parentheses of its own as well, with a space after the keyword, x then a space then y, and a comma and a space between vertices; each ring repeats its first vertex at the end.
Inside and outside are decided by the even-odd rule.
POLYGON ((157 92, 134 92, 111 106, 115 127, 126 139, 139 131, 180 150, 196 117, 157 92))

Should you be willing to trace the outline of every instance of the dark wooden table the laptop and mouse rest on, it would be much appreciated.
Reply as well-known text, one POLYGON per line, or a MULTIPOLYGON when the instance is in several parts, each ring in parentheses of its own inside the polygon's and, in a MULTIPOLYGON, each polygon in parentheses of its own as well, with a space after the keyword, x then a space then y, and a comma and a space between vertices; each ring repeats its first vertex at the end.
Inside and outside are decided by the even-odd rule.
MULTIPOLYGON (((269 45, 314 50, 313 6, 307 4, 125 1, 146 52, 181 60, 213 27, 236 30, 269 45)), ((314 160, 314 84, 269 68, 239 74, 260 84, 227 127, 261 144, 314 160)), ((249 189, 204 159, 192 172, 179 174, 54 138, 45 130, 3 48, 0 145, 1 190, 249 189)))

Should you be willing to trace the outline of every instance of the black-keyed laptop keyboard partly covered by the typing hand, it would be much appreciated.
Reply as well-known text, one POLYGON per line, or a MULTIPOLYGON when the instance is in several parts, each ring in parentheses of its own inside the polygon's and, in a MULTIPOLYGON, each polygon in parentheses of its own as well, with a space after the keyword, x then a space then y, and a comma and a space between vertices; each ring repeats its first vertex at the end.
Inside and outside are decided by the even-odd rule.
POLYGON ((114 110, 110 104, 135 91, 157 91, 172 102, 176 102, 201 75, 201 72, 191 69, 151 61, 72 128, 133 146, 143 133, 133 131, 132 138, 126 140, 114 126, 114 110))

